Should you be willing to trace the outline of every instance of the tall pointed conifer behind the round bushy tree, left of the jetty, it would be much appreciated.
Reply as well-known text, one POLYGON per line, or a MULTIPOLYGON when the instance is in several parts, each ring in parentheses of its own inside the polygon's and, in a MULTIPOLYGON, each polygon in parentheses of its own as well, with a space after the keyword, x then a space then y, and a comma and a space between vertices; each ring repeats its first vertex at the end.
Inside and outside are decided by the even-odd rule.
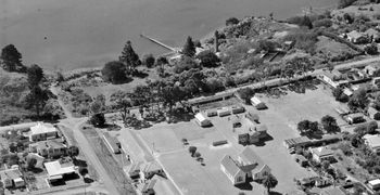
POLYGON ((124 46, 122 55, 118 60, 127 66, 128 74, 134 73, 136 67, 141 64, 139 55, 135 52, 129 40, 124 46))

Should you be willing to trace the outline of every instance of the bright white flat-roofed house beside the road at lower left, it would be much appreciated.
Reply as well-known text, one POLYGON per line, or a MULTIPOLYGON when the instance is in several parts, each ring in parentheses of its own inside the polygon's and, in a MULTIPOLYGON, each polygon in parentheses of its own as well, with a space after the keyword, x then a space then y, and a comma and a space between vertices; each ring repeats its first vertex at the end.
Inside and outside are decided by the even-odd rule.
POLYGON ((45 168, 48 171, 49 181, 54 182, 58 180, 62 180, 64 176, 73 174, 76 172, 74 165, 69 164, 61 164, 60 160, 49 161, 43 164, 45 168))

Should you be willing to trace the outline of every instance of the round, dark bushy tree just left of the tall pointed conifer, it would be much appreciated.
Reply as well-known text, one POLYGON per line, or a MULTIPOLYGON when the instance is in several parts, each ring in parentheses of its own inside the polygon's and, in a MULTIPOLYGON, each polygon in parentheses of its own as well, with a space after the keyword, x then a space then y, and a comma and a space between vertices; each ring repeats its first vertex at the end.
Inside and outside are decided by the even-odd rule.
POLYGON ((101 73, 103 79, 113 84, 124 83, 127 80, 126 67, 117 61, 106 63, 101 73))

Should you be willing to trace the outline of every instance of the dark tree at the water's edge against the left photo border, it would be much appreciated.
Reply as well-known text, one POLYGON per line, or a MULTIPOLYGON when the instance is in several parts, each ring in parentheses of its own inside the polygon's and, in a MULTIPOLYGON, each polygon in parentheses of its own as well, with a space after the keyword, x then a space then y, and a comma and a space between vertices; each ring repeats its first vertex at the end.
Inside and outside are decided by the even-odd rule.
POLYGON ((7 72, 25 72, 22 64, 22 55, 13 44, 8 44, 1 50, 1 65, 7 72))

